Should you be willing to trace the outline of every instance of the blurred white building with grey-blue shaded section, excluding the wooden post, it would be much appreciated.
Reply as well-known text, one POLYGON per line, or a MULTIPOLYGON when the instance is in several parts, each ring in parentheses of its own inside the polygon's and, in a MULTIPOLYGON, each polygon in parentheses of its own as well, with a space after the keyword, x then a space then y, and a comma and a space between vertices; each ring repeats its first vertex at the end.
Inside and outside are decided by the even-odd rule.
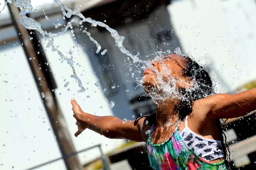
MULTIPOLYGON (((95 3, 96 1, 63 2, 70 8, 74 8, 78 3, 82 3, 82 6, 92 3, 88 5, 91 8, 83 8, 84 14, 91 14, 91 9, 97 9, 95 4, 102 7, 102 3, 95 3)), ((106 6, 106 11, 110 2, 120 1, 105 1, 103 8, 106 6)), ((123 5, 129 6, 130 2, 122 2, 126 2, 123 5)), ((1 4, 2 7, 4 2, 1 4)), ((38 12, 31 16, 37 18, 42 28, 47 31, 55 31, 53 23, 67 22, 62 19, 59 8, 53 1, 32 0, 32 5, 38 12), (50 21, 44 18, 41 8, 45 9, 50 21)), ((152 4, 150 6, 150 3, 148 6, 145 6, 145 9, 141 6, 129 8, 125 16, 115 16, 115 11, 109 11, 109 14, 114 16, 106 18, 106 24, 114 26, 119 35, 125 37, 123 44, 130 52, 139 52, 141 59, 149 60, 155 57, 154 53, 158 50, 174 51, 176 47, 180 47, 196 61, 208 66, 216 84, 216 92, 234 91, 242 84, 256 79, 254 0, 180 0, 155 8, 152 4), (150 11, 151 9, 154 10, 150 11), (145 13, 145 18, 136 19, 135 14, 139 15, 142 10, 150 12, 145 13), (135 16, 127 18, 132 12, 135 16), (126 17, 126 20, 123 20, 125 23, 122 24, 122 20, 117 23, 115 18, 122 17, 126 17)), ((99 11, 94 12, 97 17, 99 11)), ((101 21, 103 20, 105 19, 102 18, 101 21)), ((12 166, 15 169, 25 169, 59 158, 61 154, 7 8, 0 14, 0 25, 0 104, 3 108, 0 114, 0 169, 11 169, 12 166)), ((115 46, 110 34, 90 25, 84 27, 88 27, 88 31, 101 44, 102 49, 107 49, 105 56, 95 53, 95 44, 85 33, 79 31, 79 28, 75 28, 75 25, 75 40, 70 30, 54 39, 55 44, 60 46, 59 50, 65 55, 69 55, 70 50, 73 52, 72 55, 78 63, 75 66, 76 72, 83 85, 88 88, 84 93, 77 93, 79 89, 75 80, 70 78, 70 67, 61 63, 56 53, 46 49, 43 41, 42 45, 58 86, 55 92, 76 150, 101 144, 103 152, 106 153, 126 141, 107 139, 90 130, 75 138, 73 133, 77 127, 72 116, 71 97, 76 98, 85 112, 99 116, 115 115, 122 119, 133 119, 133 114, 146 114, 154 111, 154 107, 152 101, 145 102, 138 97, 138 94, 143 93, 143 89, 135 89, 135 77, 141 77, 142 73, 139 73, 134 65, 127 64, 127 56, 115 46), (80 48, 75 47, 75 41, 80 44, 80 48), (129 68, 132 71, 129 71, 129 68), (135 74, 134 77, 131 73, 135 74), (70 84, 64 87, 67 81, 70 84), (96 82, 101 86, 96 87, 96 82), (111 88, 112 86, 115 88, 111 88), (112 109, 109 107, 110 101, 115 102, 112 109)), ((94 149, 78 156, 80 162, 85 164, 100 156, 100 152, 94 149)), ((65 169, 65 165, 61 160, 38 169, 65 169)))

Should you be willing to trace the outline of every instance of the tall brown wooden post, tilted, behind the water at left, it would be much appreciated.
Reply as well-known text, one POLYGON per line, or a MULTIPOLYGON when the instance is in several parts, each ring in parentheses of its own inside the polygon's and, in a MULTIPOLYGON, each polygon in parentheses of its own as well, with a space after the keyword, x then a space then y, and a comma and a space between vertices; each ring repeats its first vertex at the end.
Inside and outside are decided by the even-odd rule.
POLYGON ((28 30, 19 23, 19 9, 15 7, 13 3, 8 3, 7 5, 9 7, 13 24, 17 30, 18 38, 21 41, 27 61, 29 62, 30 69, 37 84, 39 95, 41 96, 43 93, 45 96, 44 98, 42 97, 42 101, 49 117, 52 130, 56 136, 56 140, 58 142, 66 168, 68 170, 81 170, 82 166, 77 155, 70 158, 67 157, 68 154, 75 152, 75 147, 66 127, 64 116, 59 109, 55 93, 52 91, 56 87, 53 85, 54 80, 49 78, 51 75, 49 72, 50 70, 42 69, 49 69, 50 67, 46 66, 45 63, 42 62, 46 60, 46 58, 42 60, 42 55, 44 55, 42 48, 38 54, 38 46, 41 47, 41 44, 39 43, 34 30, 28 30), (30 32, 32 32, 32 34, 30 34, 30 32), (33 41, 29 39, 29 37, 32 36, 34 37, 33 41))

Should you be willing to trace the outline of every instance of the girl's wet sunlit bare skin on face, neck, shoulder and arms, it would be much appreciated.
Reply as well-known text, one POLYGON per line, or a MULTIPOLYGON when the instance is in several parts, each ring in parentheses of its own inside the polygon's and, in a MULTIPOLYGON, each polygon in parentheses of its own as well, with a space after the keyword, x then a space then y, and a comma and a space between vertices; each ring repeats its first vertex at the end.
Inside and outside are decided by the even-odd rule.
MULTIPOLYGON (((188 88, 194 85, 193 77, 186 77, 182 72, 182 68, 186 68, 186 59, 183 57, 173 54, 163 57, 159 61, 152 61, 152 64, 163 76, 165 82, 170 78, 175 78, 177 80, 176 88, 188 88), (166 74, 166 70, 169 74, 166 74)), ((145 91, 157 90, 155 87, 158 80, 153 68, 146 69, 144 76, 143 87, 145 91)), ((178 115, 175 112, 175 105, 178 102, 178 98, 171 99, 170 97, 170 99, 159 101, 159 104, 156 105, 157 125, 151 134, 153 143, 162 143, 173 134, 178 122, 178 115), (174 125, 166 126, 167 123, 174 125)), ((139 119, 137 124, 134 124, 134 120, 124 124, 121 119, 115 116, 95 116, 83 112, 74 98, 71 99, 71 104, 73 116, 78 126, 78 131, 75 133, 76 137, 88 128, 108 138, 130 139, 138 142, 146 142, 148 139, 148 134, 145 132, 151 128, 152 124, 150 122, 145 124, 147 117, 139 119)), ((188 116, 189 128, 202 137, 220 140, 216 119, 245 116, 256 110, 256 88, 234 95, 214 94, 196 100, 192 109, 193 111, 188 116)), ((184 127, 185 119, 181 121, 179 130, 182 131, 184 127)), ((219 158, 211 162, 218 163, 222 160, 223 158, 219 158)))

